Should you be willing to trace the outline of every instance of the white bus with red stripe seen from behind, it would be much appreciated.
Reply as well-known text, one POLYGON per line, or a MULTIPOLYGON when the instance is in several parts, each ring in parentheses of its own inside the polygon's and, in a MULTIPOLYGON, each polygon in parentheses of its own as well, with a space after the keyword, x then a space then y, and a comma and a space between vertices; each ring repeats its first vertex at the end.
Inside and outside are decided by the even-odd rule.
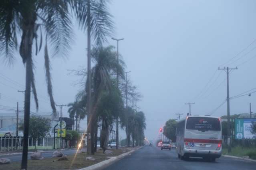
POLYGON ((202 157, 215 161, 222 154, 222 128, 218 117, 187 116, 176 128, 177 154, 181 159, 202 157))

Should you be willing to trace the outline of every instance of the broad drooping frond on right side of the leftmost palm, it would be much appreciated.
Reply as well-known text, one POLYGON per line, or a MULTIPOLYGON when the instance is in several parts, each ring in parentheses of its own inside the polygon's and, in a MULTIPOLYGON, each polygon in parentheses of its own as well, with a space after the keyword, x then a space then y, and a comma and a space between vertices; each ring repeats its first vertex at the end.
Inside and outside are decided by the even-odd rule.
POLYGON ((44 2, 43 6, 40 18, 49 36, 54 55, 61 53, 63 56, 67 56, 68 50, 71 48, 70 44, 73 42, 69 5, 65 0, 48 0, 44 2))

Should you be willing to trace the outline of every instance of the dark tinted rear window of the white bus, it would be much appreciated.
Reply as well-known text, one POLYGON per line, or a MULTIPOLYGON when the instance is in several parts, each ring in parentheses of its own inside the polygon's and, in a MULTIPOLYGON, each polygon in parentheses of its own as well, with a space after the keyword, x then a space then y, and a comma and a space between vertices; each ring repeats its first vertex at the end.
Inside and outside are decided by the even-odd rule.
POLYGON ((220 131, 220 120, 212 117, 189 117, 186 129, 200 131, 220 131))

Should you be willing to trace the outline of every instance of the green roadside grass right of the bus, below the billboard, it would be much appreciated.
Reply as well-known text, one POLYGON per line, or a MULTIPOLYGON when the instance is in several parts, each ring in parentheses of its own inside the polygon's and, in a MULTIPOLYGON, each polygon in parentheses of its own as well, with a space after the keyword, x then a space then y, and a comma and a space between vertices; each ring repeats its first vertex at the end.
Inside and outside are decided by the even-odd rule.
POLYGON ((249 156, 251 159, 256 159, 256 148, 242 148, 241 146, 236 146, 231 148, 231 153, 228 153, 227 148, 223 148, 222 154, 239 157, 249 156))

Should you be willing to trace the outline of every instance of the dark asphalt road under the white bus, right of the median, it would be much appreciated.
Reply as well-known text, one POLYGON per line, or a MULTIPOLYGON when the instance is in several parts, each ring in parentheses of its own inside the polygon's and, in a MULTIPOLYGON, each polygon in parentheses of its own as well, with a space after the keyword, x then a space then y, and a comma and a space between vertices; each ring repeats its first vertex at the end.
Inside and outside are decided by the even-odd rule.
POLYGON ((200 158, 180 160, 175 149, 161 150, 145 146, 104 170, 255 170, 256 162, 220 157, 216 162, 200 158))

